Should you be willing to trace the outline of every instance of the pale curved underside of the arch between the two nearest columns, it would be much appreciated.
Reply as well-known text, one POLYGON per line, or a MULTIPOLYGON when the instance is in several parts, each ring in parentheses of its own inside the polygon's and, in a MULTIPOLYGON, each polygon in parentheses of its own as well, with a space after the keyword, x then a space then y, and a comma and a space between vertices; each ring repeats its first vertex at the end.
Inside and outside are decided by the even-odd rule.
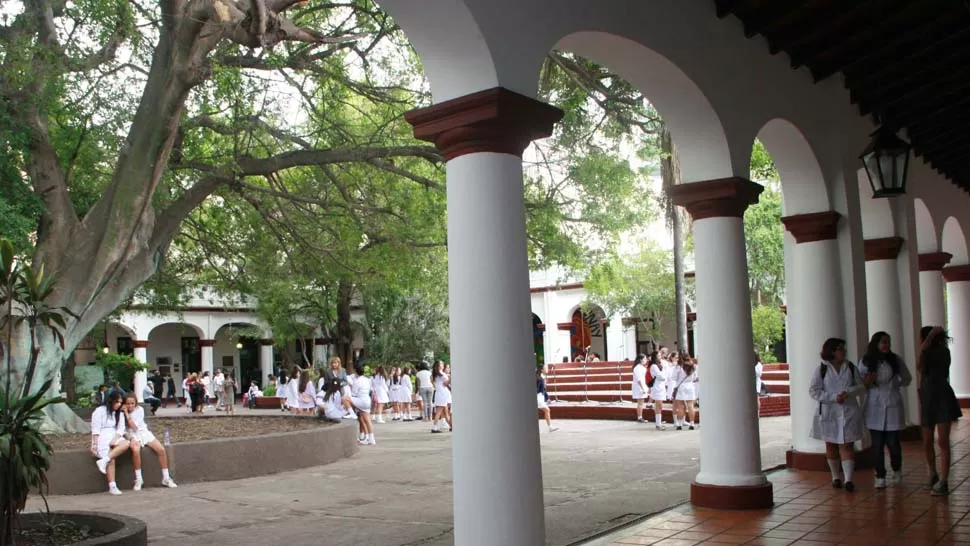
POLYGON ((553 49, 610 68, 649 98, 670 128, 684 182, 724 178, 734 172, 717 112, 700 87, 668 58, 628 38, 599 31, 568 34, 553 49))

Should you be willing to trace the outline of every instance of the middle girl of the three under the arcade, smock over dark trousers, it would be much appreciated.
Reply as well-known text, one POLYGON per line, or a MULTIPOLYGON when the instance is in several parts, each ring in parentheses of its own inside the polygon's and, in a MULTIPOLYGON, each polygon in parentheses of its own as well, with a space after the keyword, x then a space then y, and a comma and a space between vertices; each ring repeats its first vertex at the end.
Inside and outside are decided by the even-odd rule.
POLYGON ((903 387, 913 382, 913 376, 903 359, 890 350, 892 339, 886 332, 876 332, 869 340, 865 356, 859 361, 862 382, 869 389, 866 397, 866 426, 872 437, 872 452, 876 458, 876 489, 886 487, 886 448, 893 469, 893 484, 903 482, 903 448, 899 431, 906 427, 903 387))

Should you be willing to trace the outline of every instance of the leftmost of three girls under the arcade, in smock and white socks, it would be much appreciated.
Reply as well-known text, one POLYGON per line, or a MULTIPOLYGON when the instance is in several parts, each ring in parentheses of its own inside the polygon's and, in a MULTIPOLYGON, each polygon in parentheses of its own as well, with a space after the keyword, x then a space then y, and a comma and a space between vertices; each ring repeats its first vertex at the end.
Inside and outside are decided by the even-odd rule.
POLYGON ((859 395, 866 387, 855 365, 845 358, 845 340, 829 338, 822 344, 822 363, 812 375, 809 394, 818 402, 812 423, 812 438, 825 442, 825 458, 832 471, 832 487, 843 483, 855 491, 852 473, 855 452, 852 444, 862 439, 862 408, 859 395), (841 462, 842 476, 839 475, 841 462), (844 482, 843 482, 844 477, 844 482))

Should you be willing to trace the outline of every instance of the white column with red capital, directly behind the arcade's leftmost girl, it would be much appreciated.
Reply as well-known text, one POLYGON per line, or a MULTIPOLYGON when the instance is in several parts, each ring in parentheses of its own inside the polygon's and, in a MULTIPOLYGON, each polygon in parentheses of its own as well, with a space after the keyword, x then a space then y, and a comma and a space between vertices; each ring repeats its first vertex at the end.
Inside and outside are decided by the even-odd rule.
MULTIPOLYGON (((818 368, 822 343, 845 335, 842 285, 839 278, 839 215, 835 212, 782 218, 795 238, 788 279, 788 363, 791 382, 791 427, 795 468, 812 467, 805 455, 825 453, 825 444, 809 433, 818 403, 808 394, 818 368)), ((816 458, 816 457, 813 457, 816 458)), ((824 464, 824 463, 823 463, 824 464)))

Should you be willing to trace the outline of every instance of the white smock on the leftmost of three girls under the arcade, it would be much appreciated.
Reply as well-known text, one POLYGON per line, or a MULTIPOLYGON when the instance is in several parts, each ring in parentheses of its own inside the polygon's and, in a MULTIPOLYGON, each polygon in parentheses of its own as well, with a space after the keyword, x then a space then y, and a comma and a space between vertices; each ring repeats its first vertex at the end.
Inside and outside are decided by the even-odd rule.
POLYGON ((842 369, 836 371, 831 362, 822 361, 821 366, 828 368, 824 380, 821 366, 815 367, 808 391, 812 399, 819 402, 812 420, 812 438, 832 444, 850 444, 862 439, 864 423, 859 396, 866 387, 858 370, 849 364, 843 362, 842 369), (848 393, 842 404, 835 401, 840 392, 848 393))

